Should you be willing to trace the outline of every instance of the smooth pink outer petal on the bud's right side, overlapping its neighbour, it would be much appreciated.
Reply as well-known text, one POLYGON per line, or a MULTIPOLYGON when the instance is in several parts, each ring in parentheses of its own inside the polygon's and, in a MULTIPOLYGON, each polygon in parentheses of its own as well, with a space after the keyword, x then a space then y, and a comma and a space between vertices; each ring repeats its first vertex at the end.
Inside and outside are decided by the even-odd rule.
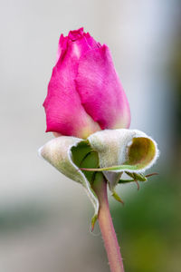
POLYGON ((103 45, 81 56, 76 84, 86 112, 102 130, 129 128, 129 102, 108 46, 103 45))

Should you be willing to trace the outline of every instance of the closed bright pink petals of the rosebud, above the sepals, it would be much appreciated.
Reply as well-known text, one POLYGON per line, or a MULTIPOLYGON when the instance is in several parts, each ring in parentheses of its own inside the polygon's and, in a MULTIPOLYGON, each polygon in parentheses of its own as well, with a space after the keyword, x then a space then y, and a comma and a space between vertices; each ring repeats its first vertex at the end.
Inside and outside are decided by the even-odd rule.
POLYGON ((110 49, 83 28, 61 35, 43 106, 46 131, 85 139, 95 131, 129 128, 129 102, 110 49))

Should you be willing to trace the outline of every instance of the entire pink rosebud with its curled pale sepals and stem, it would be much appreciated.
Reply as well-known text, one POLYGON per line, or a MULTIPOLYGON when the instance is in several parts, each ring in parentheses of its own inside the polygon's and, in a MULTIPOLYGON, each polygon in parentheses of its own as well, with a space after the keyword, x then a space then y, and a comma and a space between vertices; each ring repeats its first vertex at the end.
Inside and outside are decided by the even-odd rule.
POLYGON ((47 131, 62 137, 48 141, 39 154, 86 190, 95 210, 91 228, 99 216, 101 231, 108 230, 103 235, 105 244, 110 244, 108 256, 109 252, 117 252, 111 254, 110 263, 118 267, 119 246, 110 249, 116 235, 114 230, 110 231, 107 183, 112 196, 122 202, 116 186, 146 181, 150 174, 143 173, 156 162, 159 152, 157 143, 147 134, 127 130, 129 102, 108 46, 83 33, 83 28, 71 31, 67 37, 61 35, 57 63, 43 106, 47 131), (120 180, 123 172, 129 180, 120 180), (116 256, 114 260, 112 256, 116 256))

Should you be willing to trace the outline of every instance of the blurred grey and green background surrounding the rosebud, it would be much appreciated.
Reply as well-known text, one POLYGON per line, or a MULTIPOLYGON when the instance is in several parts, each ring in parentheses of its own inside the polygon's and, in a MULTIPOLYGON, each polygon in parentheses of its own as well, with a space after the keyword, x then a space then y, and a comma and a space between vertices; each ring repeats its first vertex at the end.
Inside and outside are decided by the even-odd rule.
POLYGON ((108 44, 127 92, 131 128, 157 142, 159 175, 110 198, 126 272, 180 272, 181 2, 0 0, 0 272, 109 272, 81 186, 37 150, 60 34, 84 26, 108 44))

